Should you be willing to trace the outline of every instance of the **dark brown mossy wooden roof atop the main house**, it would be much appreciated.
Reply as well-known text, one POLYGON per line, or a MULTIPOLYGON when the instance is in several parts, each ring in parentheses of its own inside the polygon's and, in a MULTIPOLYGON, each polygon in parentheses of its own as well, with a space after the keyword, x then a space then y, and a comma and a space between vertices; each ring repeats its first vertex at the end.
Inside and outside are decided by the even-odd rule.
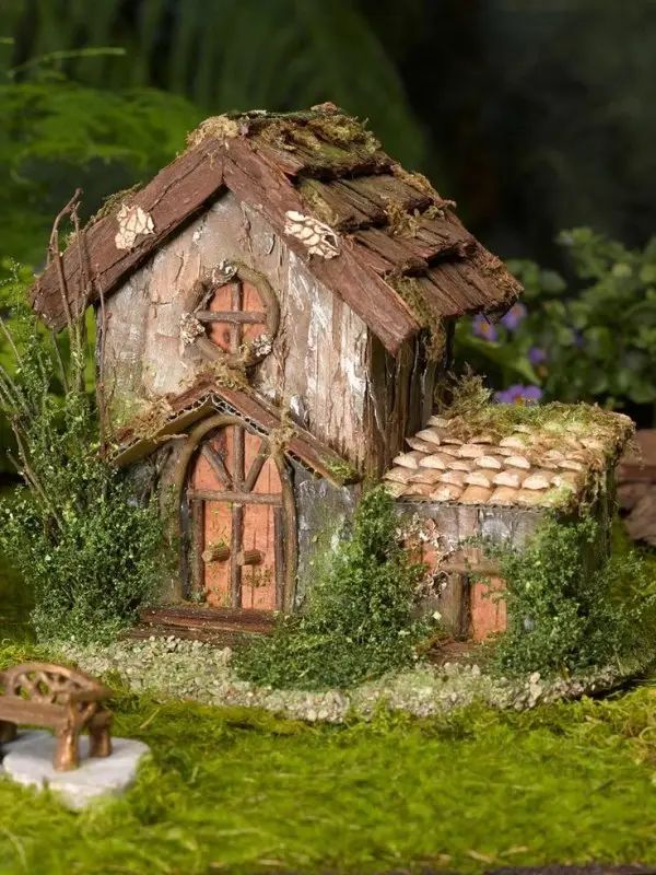
MULTIPOLYGON (((186 152, 140 191, 119 198, 62 254, 71 310, 83 298, 110 295, 224 188, 259 210, 393 354, 432 320, 503 312, 520 292, 503 264, 464 228, 452 201, 327 104, 306 113, 204 121, 186 152), (140 208, 149 225, 132 245, 117 248, 126 206, 140 208), (328 241, 327 254, 311 245, 319 237, 328 241)), ((34 310, 55 329, 66 325, 58 275, 51 264, 31 290, 34 310)))

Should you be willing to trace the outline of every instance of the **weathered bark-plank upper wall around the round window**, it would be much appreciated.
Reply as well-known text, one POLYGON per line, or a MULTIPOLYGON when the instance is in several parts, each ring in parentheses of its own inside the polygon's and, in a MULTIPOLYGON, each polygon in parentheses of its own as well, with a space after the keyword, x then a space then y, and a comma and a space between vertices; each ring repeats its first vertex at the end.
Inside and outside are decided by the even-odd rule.
MULTIPOLYGON (((335 464, 341 457, 360 470, 382 474, 405 436, 425 422, 438 365, 425 361, 419 339, 406 341, 396 357, 386 352, 270 223, 230 192, 164 244, 156 258, 107 302, 105 375, 114 423, 129 422, 157 399, 165 400, 172 421, 188 417, 186 408, 197 406, 198 396, 191 397, 195 390, 187 387, 207 372, 207 360, 194 346, 181 346, 180 318, 189 310, 199 276, 222 259, 246 260, 266 277, 279 299, 280 325, 272 352, 249 371, 260 399, 285 399, 305 432, 304 440, 312 440, 308 433, 315 435, 315 455, 321 456, 321 446, 331 447, 335 464)), ((203 385, 209 392, 211 380, 203 385)), ((234 397, 247 404, 247 396, 234 397)), ((271 427, 276 427, 279 413, 274 406, 270 411, 271 427)), ((184 431, 187 424, 189 419, 179 428, 169 422, 148 434, 150 445, 141 441, 134 447, 130 447, 134 441, 129 429, 119 431, 125 447, 121 460, 143 456, 166 433, 184 431)), ((306 458, 301 452, 298 457, 306 458)), ((329 467, 308 464, 315 470, 329 467)))

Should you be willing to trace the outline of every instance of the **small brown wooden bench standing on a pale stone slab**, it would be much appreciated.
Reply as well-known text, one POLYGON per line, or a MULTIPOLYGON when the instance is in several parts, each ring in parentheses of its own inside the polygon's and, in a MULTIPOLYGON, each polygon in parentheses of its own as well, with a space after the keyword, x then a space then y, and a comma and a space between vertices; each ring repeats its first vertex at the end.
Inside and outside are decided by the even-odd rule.
POLYGON ((90 756, 112 752, 112 714, 101 702, 112 690, 95 678, 48 663, 24 663, 0 672, 0 744, 16 737, 19 724, 54 730, 57 747, 52 766, 58 771, 79 765, 79 738, 90 734, 90 756))

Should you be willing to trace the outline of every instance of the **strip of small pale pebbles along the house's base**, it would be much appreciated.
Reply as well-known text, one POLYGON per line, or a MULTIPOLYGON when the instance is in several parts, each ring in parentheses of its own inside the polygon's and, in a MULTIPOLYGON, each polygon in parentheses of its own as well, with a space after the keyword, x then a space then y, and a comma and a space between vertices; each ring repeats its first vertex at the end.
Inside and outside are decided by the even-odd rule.
POLYGON ((419 664, 349 690, 279 690, 239 680, 230 667, 230 649, 199 641, 151 638, 116 641, 104 648, 60 644, 59 653, 99 676, 117 673, 134 692, 191 699, 211 705, 253 707, 311 723, 368 720, 382 707, 426 718, 473 702, 522 711, 538 703, 608 691, 644 669, 644 662, 608 667, 571 678, 542 678, 535 672, 509 680, 481 672, 478 665, 419 664))

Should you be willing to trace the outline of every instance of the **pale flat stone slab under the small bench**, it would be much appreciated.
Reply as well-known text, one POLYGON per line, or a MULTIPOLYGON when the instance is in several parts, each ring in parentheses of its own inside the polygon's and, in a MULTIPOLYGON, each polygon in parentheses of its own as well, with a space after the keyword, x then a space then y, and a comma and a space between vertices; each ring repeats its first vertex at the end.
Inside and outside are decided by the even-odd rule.
POLYGON ((113 738, 109 757, 89 757, 89 737, 80 738, 80 766, 67 772, 52 768, 55 736, 49 732, 27 731, 15 742, 2 745, 0 778, 25 786, 50 790, 60 802, 81 810, 98 798, 119 796, 134 782, 139 763, 150 751, 143 742, 113 738))

